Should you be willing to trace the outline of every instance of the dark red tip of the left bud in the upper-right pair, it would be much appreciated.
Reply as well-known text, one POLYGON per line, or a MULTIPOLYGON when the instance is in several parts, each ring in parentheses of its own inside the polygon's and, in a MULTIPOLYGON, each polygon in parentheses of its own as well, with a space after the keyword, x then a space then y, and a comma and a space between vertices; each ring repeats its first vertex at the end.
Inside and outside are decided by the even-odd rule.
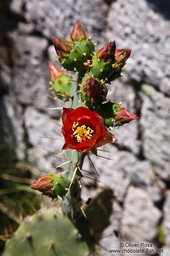
POLYGON ((115 60, 115 50, 116 44, 115 41, 108 43, 102 49, 97 52, 97 56, 102 59, 104 62, 114 63, 115 60))

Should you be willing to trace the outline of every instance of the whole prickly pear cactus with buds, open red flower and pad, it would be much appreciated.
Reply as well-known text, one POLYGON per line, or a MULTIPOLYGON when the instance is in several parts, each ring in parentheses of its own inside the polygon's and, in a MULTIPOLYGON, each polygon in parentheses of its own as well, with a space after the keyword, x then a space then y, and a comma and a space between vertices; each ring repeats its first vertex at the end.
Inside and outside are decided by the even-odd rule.
POLYGON ((86 243, 78 241, 77 229, 66 217, 55 214, 54 209, 42 210, 18 228, 15 236, 6 244, 4 256, 12 256, 12 253, 13 256, 72 256, 75 252, 76 255, 86 256, 89 250, 94 250, 100 235, 93 227, 95 221, 92 218, 98 213, 93 214, 89 205, 86 217, 82 209, 80 181, 84 176, 81 171, 83 161, 89 152, 97 155, 98 147, 117 141, 107 128, 121 126, 137 118, 120 102, 112 103, 106 98, 108 90, 105 84, 121 75, 131 50, 116 49, 113 41, 95 53, 94 44, 78 21, 69 41, 58 37, 52 40, 63 68, 78 71, 72 80, 63 68, 60 70, 49 63, 51 89, 58 98, 68 100, 69 104, 62 114, 65 138, 62 150, 65 150, 65 161, 70 160, 64 163, 64 174, 50 172, 34 182, 31 188, 52 199, 62 198, 63 213, 78 228, 86 243))

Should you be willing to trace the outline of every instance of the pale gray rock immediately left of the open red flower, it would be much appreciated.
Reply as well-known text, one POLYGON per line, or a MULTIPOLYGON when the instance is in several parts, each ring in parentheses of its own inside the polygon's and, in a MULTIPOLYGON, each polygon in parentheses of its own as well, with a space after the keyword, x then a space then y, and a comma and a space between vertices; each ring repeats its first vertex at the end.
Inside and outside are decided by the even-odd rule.
POLYGON ((49 169, 52 171, 54 165, 58 166, 64 162, 63 159, 52 157, 52 155, 64 157, 62 154, 55 154, 55 152, 61 151, 64 145, 63 136, 56 132, 56 129, 61 129, 59 129, 59 126, 52 123, 52 120, 50 120, 47 115, 39 113, 39 111, 33 107, 26 108, 24 117, 28 140, 33 147, 28 152, 29 160, 37 162, 39 170, 43 173, 47 173, 49 169))

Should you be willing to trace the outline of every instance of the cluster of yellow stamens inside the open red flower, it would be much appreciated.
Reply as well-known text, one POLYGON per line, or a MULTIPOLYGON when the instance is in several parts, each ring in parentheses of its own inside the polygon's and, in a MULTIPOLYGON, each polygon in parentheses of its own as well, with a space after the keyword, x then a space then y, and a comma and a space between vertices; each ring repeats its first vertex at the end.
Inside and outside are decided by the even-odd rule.
POLYGON ((84 142, 87 139, 91 139, 94 132, 90 127, 86 128, 85 125, 78 126, 78 122, 73 122, 72 130, 74 131, 71 137, 76 137, 78 142, 84 142))

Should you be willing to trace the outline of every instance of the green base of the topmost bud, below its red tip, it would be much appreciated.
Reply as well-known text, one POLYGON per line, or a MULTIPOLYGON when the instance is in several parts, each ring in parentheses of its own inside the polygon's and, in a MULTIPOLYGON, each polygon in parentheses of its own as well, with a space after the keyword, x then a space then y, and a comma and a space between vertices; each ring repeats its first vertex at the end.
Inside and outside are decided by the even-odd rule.
POLYGON ((86 59, 92 59, 94 44, 90 39, 82 39, 74 42, 78 45, 82 53, 86 53, 86 59))

